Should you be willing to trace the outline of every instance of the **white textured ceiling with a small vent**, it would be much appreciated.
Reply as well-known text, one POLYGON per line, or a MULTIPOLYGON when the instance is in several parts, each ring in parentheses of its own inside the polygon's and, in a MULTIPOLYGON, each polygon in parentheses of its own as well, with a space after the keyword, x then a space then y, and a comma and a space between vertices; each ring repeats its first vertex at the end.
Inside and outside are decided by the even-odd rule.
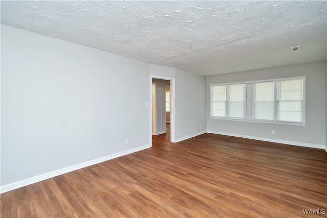
POLYGON ((326 3, 1 1, 1 22, 208 76, 326 60, 326 3))

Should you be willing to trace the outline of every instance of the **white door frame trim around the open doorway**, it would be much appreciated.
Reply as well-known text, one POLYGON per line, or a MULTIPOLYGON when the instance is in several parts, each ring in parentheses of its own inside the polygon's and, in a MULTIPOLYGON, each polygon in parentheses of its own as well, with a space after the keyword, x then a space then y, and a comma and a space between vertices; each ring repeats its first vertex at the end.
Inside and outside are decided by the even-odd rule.
POLYGON ((150 146, 152 146, 152 79, 170 80, 170 141, 175 142, 175 78, 150 75, 150 146))

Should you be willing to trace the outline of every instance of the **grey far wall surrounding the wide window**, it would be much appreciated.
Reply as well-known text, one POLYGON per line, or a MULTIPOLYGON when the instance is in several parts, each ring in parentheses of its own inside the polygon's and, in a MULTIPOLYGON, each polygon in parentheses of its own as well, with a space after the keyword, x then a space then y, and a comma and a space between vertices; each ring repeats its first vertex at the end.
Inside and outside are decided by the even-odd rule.
POLYGON ((207 131, 249 138, 264 138, 301 146, 326 144, 326 63, 278 67, 206 78, 207 131), (306 126, 238 122, 210 118, 210 85, 229 82, 306 76, 306 126), (275 135, 271 134, 275 130, 275 135), (293 143, 294 142, 294 143, 293 143))

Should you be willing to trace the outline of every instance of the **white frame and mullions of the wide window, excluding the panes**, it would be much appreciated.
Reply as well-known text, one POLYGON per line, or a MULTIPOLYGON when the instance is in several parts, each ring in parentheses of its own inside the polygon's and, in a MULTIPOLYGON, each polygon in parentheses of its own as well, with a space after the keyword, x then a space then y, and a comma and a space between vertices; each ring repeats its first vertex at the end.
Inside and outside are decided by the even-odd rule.
MULTIPOLYGON (((228 88, 226 88, 228 89, 228 88)), ((228 97, 228 93, 226 92, 226 98, 228 97)), ((286 124, 286 125, 298 125, 298 126, 305 126, 306 125, 306 77, 290 77, 290 78, 278 78, 278 79, 269 79, 269 80, 256 80, 256 81, 246 81, 246 82, 237 82, 237 83, 221 83, 221 84, 211 84, 210 85, 210 118, 211 119, 222 119, 222 120, 235 120, 235 121, 240 121, 240 122, 252 122, 252 123, 267 123, 267 124, 286 124), (302 79, 302 122, 281 122, 277 120, 277 96, 278 96, 278 90, 277 90, 277 83, 278 81, 283 81, 283 80, 297 80, 297 79, 302 79), (269 120, 255 120, 253 119, 253 105, 254 105, 254 99, 253 99, 253 94, 254 94, 254 89, 253 89, 253 84, 254 83, 260 83, 260 82, 274 82, 274 119, 272 121, 269 120), (212 116, 212 87, 213 86, 219 86, 219 85, 232 85, 232 84, 245 84, 246 86, 246 98, 245 98, 245 119, 240 119, 240 118, 230 118, 228 117, 228 104, 226 100, 226 117, 216 117, 212 116)), ((228 99, 228 98, 227 98, 228 99)))

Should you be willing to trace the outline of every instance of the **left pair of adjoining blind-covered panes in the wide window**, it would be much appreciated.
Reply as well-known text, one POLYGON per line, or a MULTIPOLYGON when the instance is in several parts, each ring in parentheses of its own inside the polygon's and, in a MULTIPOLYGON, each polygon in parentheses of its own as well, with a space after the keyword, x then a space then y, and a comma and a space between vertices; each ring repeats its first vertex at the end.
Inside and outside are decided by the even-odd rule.
POLYGON ((213 117, 245 119, 246 84, 212 86, 213 117))

